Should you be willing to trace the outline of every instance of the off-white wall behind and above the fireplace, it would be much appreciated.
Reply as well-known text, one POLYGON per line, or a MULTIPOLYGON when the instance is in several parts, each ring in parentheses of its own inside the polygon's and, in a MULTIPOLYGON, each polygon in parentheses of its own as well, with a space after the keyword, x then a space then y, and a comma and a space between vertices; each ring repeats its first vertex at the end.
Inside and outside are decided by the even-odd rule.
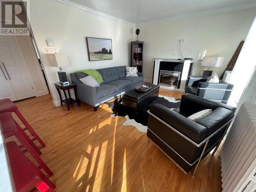
MULTIPOLYGON (((206 56, 222 56, 223 66, 213 68, 221 75, 241 40, 246 38, 256 13, 256 8, 198 16, 172 22, 137 25, 139 40, 145 41, 143 71, 145 80, 152 81, 153 58, 181 58, 178 39, 184 38, 183 57, 198 58, 206 50, 206 56)), ((203 69, 197 61, 194 74, 203 69)))

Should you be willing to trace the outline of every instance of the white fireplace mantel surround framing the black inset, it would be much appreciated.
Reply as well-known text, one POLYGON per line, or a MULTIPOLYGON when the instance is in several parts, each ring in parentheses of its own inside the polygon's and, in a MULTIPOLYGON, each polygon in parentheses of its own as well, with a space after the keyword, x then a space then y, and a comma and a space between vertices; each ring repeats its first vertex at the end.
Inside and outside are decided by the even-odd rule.
MULTIPOLYGON (((183 59, 172 59, 172 58, 153 58, 155 61, 155 67, 154 67, 154 74, 153 74, 153 84, 159 84, 159 70, 160 70, 160 62, 165 61, 165 62, 181 62, 183 64, 182 68, 182 75, 180 77, 180 88, 175 89, 175 88, 169 88, 166 86, 160 86, 163 89, 171 89, 171 90, 177 90, 177 91, 184 91, 185 86, 186 86, 186 80, 188 77, 189 73, 189 67, 191 65, 191 60, 183 60, 183 59)), ((170 65, 172 65, 170 63, 170 65)))

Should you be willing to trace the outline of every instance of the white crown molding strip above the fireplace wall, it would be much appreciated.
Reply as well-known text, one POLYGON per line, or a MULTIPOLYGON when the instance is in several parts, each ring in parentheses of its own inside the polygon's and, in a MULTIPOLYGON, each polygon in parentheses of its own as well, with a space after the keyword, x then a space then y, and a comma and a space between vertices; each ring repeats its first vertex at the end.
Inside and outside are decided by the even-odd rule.
POLYGON ((136 25, 166 23, 166 22, 172 22, 173 20, 186 19, 186 18, 204 16, 204 15, 210 15, 210 14, 216 14, 216 13, 223 13, 223 12, 229 12, 229 11, 236 11, 236 10, 247 9, 247 8, 252 8, 252 7, 256 7, 256 4, 238 5, 238 6, 231 6, 231 7, 225 7, 225 8, 220 8, 220 9, 211 9, 211 10, 207 10, 207 11, 189 13, 189 14, 184 14, 184 15, 175 16, 175 17, 169 17, 169 18, 164 18, 164 19, 159 19, 159 20, 152 20, 152 21, 148 21, 148 22, 142 22, 142 23, 138 23, 136 25))

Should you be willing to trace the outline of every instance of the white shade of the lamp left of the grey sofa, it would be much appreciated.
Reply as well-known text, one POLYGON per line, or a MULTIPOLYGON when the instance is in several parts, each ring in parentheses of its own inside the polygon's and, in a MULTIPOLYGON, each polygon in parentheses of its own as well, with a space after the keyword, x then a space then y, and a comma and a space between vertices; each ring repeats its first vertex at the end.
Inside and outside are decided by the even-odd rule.
POLYGON ((64 67, 69 66, 68 56, 65 53, 58 54, 47 54, 50 66, 53 67, 64 67))

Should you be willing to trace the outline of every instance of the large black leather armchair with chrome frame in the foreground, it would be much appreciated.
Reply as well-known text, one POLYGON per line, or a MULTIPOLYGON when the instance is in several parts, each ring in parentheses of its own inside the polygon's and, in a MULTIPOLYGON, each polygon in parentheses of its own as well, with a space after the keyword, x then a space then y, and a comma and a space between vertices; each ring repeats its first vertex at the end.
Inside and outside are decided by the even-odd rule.
MULTIPOLYGON (((180 109, 170 110, 161 104, 148 111, 147 136, 178 165, 184 173, 195 167, 215 147, 219 147, 236 108, 184 94, 180 109), (187 117, 204 109, 212 109, 205 117, 192 121, 187 117)), ((214 154, 213 153, 213 154, 214 154)))

